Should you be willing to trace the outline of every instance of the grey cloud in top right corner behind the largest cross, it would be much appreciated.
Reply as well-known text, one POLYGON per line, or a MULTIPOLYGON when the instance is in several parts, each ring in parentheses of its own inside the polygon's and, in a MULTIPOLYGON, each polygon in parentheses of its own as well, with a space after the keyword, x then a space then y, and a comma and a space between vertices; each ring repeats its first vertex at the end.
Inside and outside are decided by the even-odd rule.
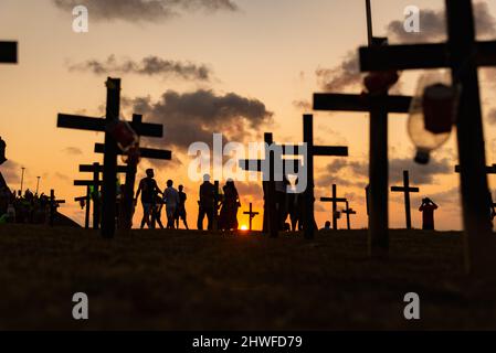
MULTIPOLYGON (((403 29, 403 21, 392 21, 388 24, 388 33, 403 43, 426 43, 446 40, 446 10, 421 10, 420 33, 409 33, 403 29)), ((477 35, 481 38, 494 36, 496 20, 490 14, 486 2, 474 3, 474 17, 477 35)))

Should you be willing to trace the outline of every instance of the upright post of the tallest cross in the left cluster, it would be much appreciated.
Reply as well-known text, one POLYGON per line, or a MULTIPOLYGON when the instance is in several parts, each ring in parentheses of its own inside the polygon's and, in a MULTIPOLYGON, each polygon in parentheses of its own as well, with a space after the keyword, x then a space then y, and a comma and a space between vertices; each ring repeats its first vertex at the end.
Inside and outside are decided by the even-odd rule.
MULTIPOLYGON (((110 125, 119 120, 120 79, 108 77, 106 122, 110 125)), ((103 178, 103 217, 102 236, 113 238, 115 234, 116 179, 117 179, 117 143, 108 131, 105 132, 104 178, 103 178)))

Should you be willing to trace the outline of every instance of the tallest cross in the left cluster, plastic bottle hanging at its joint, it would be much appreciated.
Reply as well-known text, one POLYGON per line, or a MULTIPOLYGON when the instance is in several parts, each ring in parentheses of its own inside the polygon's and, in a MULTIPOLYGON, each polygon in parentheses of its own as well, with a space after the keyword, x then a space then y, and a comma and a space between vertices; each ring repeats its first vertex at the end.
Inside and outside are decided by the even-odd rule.
MULTIPOLYGON (((114 237, 115 234, 115 215, 116 215, 116 188, 115 181, 117 179, 117 154, 119 148, 115 138, 109 132, 109 127, 119 121, 120 114, 120 79, 107 78, 107 104, 106 117, 91 118, 74 115, 59 114, 57 127, 71 128, 89 131, 105 131, 104 145, 104 171, 103 171, 103 220, 102 220, 102 236, 106 238, 114 237)), ((133 127, 133 122, 131 122, 133 127)), ((139 136, 162 136, 162 126, 155 124, 139 124, 133 127, 139 136)))

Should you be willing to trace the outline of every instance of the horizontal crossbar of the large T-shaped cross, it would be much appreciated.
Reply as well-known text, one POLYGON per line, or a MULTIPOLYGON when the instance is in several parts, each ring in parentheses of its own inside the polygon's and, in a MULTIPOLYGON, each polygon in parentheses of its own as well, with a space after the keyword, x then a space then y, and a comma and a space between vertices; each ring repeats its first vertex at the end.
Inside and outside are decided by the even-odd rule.
POLYGON ((380 106, 388 113, 409 113, 412 97, 349 95, 349 94, 314 94, 314 110, 335 111, 370 111, 372 107, 380 106))

